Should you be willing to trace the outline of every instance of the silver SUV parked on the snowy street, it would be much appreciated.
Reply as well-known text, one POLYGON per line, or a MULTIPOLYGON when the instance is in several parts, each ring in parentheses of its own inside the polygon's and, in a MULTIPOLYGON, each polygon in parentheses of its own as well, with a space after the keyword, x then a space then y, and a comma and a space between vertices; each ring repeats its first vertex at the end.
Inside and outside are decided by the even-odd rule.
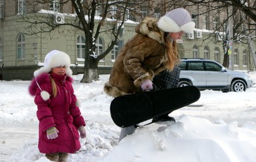
POLYGON ((225 69, 217 61, 182 59, 178 87, 194 85, 199 90, 212 89, 222 92, 245 91, 253 85, 251 77, 241 71, 225 69))

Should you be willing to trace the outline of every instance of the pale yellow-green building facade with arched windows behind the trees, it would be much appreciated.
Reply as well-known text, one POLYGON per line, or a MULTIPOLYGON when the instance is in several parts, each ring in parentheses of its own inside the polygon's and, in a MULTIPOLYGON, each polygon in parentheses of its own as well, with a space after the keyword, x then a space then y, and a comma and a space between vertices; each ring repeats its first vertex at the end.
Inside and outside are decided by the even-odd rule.
MULTIPOLYGON (((84 66, 84 32, 73 26, 59 26, 51 32, 37 32, 48 28, 45 24, 30 26, 23 15, 37 12, 37 19, 47 20, 49 23, 63 23, 63 21, 76 23, 76 17, 71 3, 61 8, 57 0, 52 3, 39 5, 26 0, 0 0, 0 80, 22 79, 31 80, 33 71, 43 65, 45 55, 51 50, 66 52, 71 59, 71 68, 74 74, 82 73, 84 66), (70 15, 66 14, 70 13, 70 15), (28 30, 36 34, 27 34, 28 30)), ((147 4, 148 5, 148 4, 147 4)), ((201 9, 200 9, 201 11, 201 9)), ((147 6, 142 7, 142 18, 152 15, 147 6)), ((199 8, 190 11, 196 23, 195 31, 184 34, 178 40, 180 58, 205 58, 223 61, 223 32, 213 34, 213 28, 219 23, 219 18, 211 15, 199 15, 199 8), (196 15, 196 16, 195 16, 196 15), (216 20, 211 22, 210 20, 216 20)), ((99 14, 100 15, 100 14, 99 14)), ((157 10, 154 17, 160 17, 157 10)), ((213 14, 214 15, 214 14, 213 14)), ((224 14, 225 15, 225 14, 224 14)), ((224 16, 223 15, 223 16, 224 16)), ((218 15, 221 17, 221 15, 218 15)), ((226 16, 226 15, 225 15, 226 16)), ((33 19, 33 17, 31 17, 33 19)), ((134 19, 134 17, 130 17, 134 19)), ((96 20, 97 24, 99 20, 96 20)), ((127 42, 134 36, 134 28, 138 22, 127 20, 124 31, 112 51, 98 64, 99 74, 110 73, 114 60, 120 50, 120 44, 127 42)), ((108 46, 110 38, 108 33, 100 34, 96 40, 96 54, 103 52, 108 46)), ((248 45, 233 42, 233 69, 249 70, 253 68, 248 45)))

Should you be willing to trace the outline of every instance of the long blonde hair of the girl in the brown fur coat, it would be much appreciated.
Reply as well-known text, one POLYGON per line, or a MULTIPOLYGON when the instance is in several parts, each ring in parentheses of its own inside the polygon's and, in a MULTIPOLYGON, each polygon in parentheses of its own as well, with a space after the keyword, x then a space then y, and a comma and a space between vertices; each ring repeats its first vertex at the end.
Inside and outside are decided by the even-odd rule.
POLYGON ((168 64, 167 67, 168 69, 172 70, 174 69, 174 66, 176 63, 180 61, 180 56, 178 54, 178 46, 176 43, 176 40, 170 40, 169 36, 165 37, 166 39, 166 54, 168 58, 168 64))

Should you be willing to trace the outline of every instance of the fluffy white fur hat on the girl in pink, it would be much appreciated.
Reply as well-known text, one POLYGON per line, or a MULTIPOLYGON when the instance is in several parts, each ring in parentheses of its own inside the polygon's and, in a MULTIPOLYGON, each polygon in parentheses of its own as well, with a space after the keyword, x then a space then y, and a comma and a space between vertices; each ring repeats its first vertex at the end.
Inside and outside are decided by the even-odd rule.
POLYGON ((61 52, 59 50, 53 50, 45 56, 44 66, 37 69, 34 72, 34 76, 37 77, 41 73, 49 73, 53 67, 65 66, 66 75, 68 77, 72 76, 72 70, 70 69, 70 58, 68 54, 61 52))

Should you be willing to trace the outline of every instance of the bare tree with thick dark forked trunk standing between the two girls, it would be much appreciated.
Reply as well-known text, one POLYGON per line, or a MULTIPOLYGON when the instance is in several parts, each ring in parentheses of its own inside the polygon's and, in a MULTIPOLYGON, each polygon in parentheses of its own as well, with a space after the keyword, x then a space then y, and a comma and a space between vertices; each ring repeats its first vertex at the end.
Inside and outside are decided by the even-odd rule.
MULTIPOLYGON (((40 36, 41 32, 51 32, 59 26, 70 25, 78 30, 82 30, 85 36, 85 58, 84 75, 80 82, 90 83, 98 80, 98 62, 102 60, 118 41, 118 36, 122 34, 122 26, 128 17, 134 21, 142 19, 141 7, 150 6, 154 1, 148 0, 63 0, 56 1, 60 6, 66 6, 74 11, 76 20, 68 22, 65 20, 62 24, 53 24, 52 19, 42 18, 37 12, 40 7, 51 5, 51 0, 29 1, 29 6, 33 9, 33 15, 20 15, 25 22, 29 22, 27 34, 36 34, 40 36), (100 11, 100 20, 96 23, 96 13, 100 11), (102 32, 107 33, 110 41, 107 48, 101 54, 95 53, 96 40, 102 32)), ((50 11, 49 11, 50 12, 50 11)))

